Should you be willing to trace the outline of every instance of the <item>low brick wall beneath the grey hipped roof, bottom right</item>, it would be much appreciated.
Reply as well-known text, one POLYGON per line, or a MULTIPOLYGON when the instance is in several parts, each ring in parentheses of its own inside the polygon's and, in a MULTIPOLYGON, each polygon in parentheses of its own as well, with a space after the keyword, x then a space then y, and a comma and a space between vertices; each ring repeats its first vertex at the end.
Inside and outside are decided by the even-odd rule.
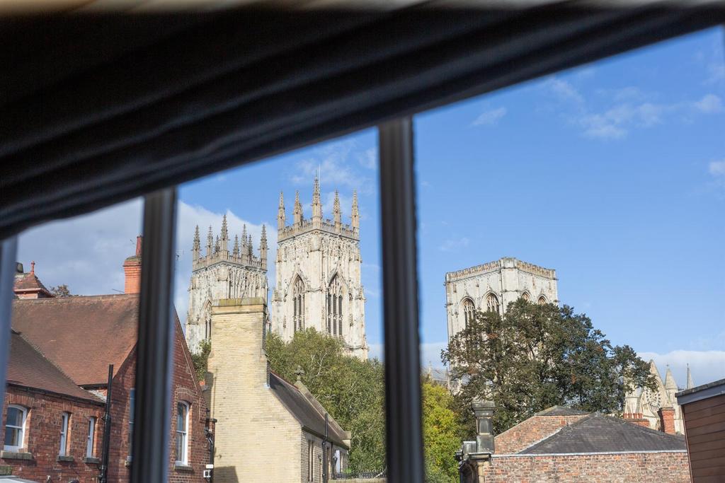
POLYGON ((494 455, 482 469, 486 483, 685 483, 687 452, 592 455, 494 455))

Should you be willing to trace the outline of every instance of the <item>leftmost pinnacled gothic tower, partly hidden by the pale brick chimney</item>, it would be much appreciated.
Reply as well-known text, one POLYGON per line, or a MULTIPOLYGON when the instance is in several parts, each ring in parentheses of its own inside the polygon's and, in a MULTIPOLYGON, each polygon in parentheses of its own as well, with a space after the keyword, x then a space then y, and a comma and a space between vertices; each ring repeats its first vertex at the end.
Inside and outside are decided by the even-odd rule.
POLYGON ((267 233, 262 226, 260 256, 254 256, 252 235, 247 225, 241 233, 241 242, 234 235, 229 251, 226 215, 216 240, 212 227, 207 235, 207 254, 201 253, 199 227, 194 232, 191 248, 191 284, 188 289, 186 316, 186 343, 195 352, 202 340, 209 339, 212 329, 212 305, 222 298, 261 297, 267 301, 267 233))

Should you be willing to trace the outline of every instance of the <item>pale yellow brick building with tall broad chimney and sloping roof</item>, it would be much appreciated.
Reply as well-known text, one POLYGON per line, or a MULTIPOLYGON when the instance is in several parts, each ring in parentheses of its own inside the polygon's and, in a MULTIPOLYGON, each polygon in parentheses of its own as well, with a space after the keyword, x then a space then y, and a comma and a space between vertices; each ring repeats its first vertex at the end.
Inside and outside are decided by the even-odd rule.
POLYGON ((208 361, 215 426, 215 483, 322 482, 347 467, 352 435, 341 429, 298 379, 270 371, 262 298, 228 299, 212 308, 208 361), (244 371, 239 371, 244 367, 244 371), (323 458, 323 445, 326 458, 323 458))

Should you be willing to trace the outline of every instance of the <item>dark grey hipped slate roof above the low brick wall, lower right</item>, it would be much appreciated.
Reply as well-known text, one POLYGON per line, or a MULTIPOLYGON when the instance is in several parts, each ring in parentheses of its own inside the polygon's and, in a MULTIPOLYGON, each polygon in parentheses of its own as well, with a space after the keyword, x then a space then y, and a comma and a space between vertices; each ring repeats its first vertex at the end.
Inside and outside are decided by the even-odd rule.
POLYGON ((519 454, 605 453, 616 451, 685 450, 684 436, 666 434, 624 419, 592 413, 563 427, 519 454))

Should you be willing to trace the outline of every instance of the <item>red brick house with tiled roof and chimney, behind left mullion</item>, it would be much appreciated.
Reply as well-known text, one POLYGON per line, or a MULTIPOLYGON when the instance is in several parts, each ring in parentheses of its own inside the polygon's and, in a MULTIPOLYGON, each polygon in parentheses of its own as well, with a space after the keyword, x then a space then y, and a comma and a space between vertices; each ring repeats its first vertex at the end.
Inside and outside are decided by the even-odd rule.
MULTIPOLYGON (((112 364, 108 476, 109 482, 129 481, 133 464, 130 434, 136 379, 140 253, 139 239, 136 256, 124 263, 127 293, 118 295, 54 298, 38 280, 34 269, 27 274, 22 269, 18 272, 15 287, 22 292, 13 301, 13 337, 17 340, 13 347, 28 345, 36 350, 36 359, 41 357, 46 363, 42 370, 35 371, 32 379, 8 378, 2 419, 6 432, 14 431, 7 429, 8 404, 16 405, 21 416, 25 415, 25 429, 17 448, 0 455, 0 464, 12 467, 14 474, 41 482, 46 482, 46 476, 51 476, 51 481, 70 481, 71 475, 80 483, 96 482, 104 437, 101 416, 105 411, 108 366, 112 364), (31 298, 33 293, 37 296, 31 298), (61 380, 63 392, 48 389, 51 382, 59 384, 61 380), (67 458, 59 458, 62 438, 59 428, 65 424, 66 417, 72 421, 67 436, 70 442, 67 458), (91 417, 95 418, 93 423, 89 422, 91 417), (88 452, 83 441, 88 440, 89 431, 94 449, 92 457, 86 458, 88 452)), ((204 482, 204 465, 209 462, 207 406, 178 317, 173 354, 169 481, 204 482)), ((25 373, 28 357, 14 362, 16 374, 25 373)), ((41 367, 40 362, 37 365, 41 367)), ((12 418, 17 419, 17 415, 17 411, 11 411, 12 418)))

